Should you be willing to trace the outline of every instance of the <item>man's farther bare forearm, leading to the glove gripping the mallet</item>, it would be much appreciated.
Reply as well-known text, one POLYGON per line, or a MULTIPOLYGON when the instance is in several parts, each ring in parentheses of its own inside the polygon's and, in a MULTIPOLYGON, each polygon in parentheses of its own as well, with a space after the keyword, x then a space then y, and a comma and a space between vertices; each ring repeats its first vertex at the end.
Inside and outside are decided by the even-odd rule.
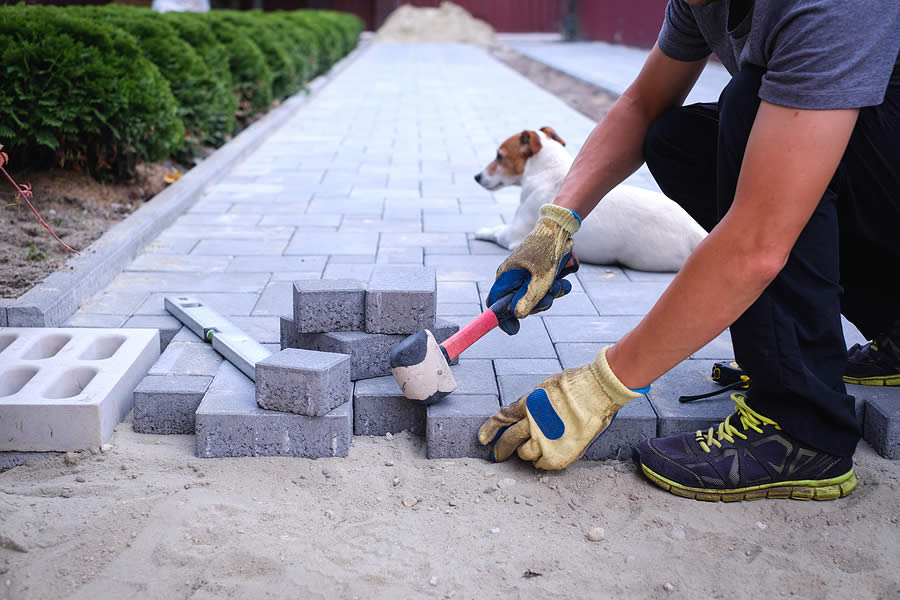
POLYGON ((705 65, 706 59, 673 60, 654 46, 637 79, 591 132, 554 203, 586 217, 641 166, 650 124, 666 109, 681 106, 705 65))

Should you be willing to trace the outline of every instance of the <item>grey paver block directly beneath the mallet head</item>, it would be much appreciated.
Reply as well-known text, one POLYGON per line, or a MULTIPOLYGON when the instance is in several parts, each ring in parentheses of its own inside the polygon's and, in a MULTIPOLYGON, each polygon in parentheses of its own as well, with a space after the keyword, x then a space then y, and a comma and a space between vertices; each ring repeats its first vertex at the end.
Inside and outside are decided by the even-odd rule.
POLYGON ((425 435, 425 405, 404 398, 390 375, 357 381, 353 392, 353 433, 384 435, 404 430, 425 435))

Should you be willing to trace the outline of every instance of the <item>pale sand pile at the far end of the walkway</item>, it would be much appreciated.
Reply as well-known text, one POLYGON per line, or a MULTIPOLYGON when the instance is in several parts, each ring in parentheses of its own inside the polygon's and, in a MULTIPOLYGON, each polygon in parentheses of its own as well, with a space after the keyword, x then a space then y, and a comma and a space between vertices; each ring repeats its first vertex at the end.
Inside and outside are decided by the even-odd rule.
POLYGON ((404 4, 391 13, 375 34, 379 42, 460 42, 477 46, 497 43, 494 29, 452 2, 440 8, 404 4))

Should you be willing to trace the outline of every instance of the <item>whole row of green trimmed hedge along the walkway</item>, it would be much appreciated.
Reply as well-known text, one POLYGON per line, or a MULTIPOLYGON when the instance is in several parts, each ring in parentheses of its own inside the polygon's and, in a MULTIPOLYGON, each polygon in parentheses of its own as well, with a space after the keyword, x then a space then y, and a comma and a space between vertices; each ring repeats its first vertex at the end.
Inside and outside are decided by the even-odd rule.
POLYGON ((319 10, 0 6, 0 144, 17 164, 100 177, 189 160, 302 90, 361 30, 355 16, 319 10))

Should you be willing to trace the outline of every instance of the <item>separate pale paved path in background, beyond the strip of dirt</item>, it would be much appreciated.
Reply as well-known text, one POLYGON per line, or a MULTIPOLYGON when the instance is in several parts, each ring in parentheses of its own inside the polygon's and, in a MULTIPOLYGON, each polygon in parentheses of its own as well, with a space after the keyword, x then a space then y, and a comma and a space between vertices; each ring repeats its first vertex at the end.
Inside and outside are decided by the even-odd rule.
MULTIPOLYGON (((513 42, 510 46, 569 75, 621 94, 631 85, 647 59, 647 50, 605 42, 513 42)), ((715 102, 731 75, 710 62, 687 97, 687 103, 715 102)))

